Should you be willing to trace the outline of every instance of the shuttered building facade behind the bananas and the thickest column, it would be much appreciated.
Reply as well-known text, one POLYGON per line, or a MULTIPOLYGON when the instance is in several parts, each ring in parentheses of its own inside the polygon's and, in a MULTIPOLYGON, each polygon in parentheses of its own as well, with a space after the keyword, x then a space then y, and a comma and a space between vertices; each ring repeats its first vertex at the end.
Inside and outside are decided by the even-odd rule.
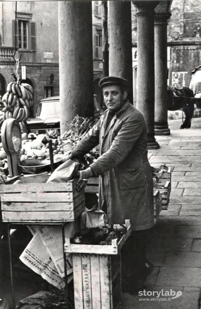
MULTIPOLYGON (((0 95, 16 73, 15 59, 26 81, 34 88, 34 106, 40 99, 59 95, 59 40, 57 1, 0 2, 0 95), (16 12, 15 12, 16 11, 16 12), (24 67, 25 66, 25 67, 24 67)), ((92 1, 94 93, 101 98, 102 75, 101 1, 92 1)))

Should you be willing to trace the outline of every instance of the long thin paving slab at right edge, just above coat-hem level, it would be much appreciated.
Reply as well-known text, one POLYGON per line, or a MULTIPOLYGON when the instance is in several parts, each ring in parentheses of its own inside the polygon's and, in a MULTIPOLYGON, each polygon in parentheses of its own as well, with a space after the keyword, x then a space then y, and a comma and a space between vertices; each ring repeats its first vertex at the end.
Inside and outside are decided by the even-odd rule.
POLYGON ((169 215, 169 216, 161 216, 157 221, 158 225, 196 225, 196 226, 201 226, 201 210, 199 211, 200 216, 195 216, 194 214, 190 213, 189 215, 187 214, 187 212, 180 212, 179 216, 175 216, 175 215, 169 215))

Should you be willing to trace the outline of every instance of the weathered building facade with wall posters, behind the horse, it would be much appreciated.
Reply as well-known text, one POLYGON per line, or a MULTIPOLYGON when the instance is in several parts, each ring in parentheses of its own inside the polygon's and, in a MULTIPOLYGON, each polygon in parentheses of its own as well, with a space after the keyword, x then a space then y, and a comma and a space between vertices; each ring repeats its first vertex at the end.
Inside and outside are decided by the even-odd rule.
MULTIPOLYGON (((167 84, 189 87, 191 72, 201 65, 201 0, 173 0, 167 26, 167 84)), ((132 6, 133 96, 136 104, 137 17, 132 6)))

